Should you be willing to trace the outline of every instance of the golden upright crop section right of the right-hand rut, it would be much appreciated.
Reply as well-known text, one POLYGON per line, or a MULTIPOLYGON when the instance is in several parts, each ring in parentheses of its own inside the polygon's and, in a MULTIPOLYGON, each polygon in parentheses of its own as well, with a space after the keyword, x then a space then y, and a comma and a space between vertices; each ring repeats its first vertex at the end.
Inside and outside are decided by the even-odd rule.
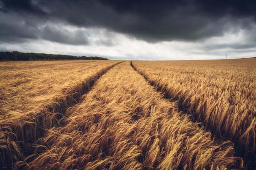
POLYGON ((132 63, 165 98, 178 100, 181 110, 256 163, 256 59, 132 63))

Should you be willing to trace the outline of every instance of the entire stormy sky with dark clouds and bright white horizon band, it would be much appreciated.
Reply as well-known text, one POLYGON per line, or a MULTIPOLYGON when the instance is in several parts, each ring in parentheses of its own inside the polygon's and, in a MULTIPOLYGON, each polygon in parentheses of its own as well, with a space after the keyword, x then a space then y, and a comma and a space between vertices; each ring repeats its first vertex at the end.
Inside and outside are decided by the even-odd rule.
POLYGON ((0 0, 0 51, 198 60, 256 56, 255 0, 0 0))

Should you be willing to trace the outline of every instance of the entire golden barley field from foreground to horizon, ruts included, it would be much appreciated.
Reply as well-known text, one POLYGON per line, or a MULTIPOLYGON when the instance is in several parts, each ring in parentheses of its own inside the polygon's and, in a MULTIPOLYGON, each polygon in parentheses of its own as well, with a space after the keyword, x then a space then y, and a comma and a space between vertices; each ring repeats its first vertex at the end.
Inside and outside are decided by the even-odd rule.
POLYGON ((0 63, 0 168, 255 165, 256 59, 0 63))

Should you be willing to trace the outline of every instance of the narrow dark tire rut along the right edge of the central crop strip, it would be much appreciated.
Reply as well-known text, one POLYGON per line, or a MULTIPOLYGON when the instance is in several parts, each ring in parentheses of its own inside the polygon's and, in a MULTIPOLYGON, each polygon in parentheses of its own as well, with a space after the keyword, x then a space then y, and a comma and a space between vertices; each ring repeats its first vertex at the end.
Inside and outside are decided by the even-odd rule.
MULTIPOLYGON (((135 71, 137 71, 140 75, 142 75, 145 80, 148 81, 149 85, 153 86, 155 90, 157 90, 157 91, 159 91, 159 92, 162 92, 162 93, 164 94, 164 95, 163 95, 163 98, 165 98, 165 99, 167 99, 167 100, 174 100, 174 101, 177 101, 177 109, 178 109, 179 111, 181 111, 181 112, 187 114, 187 115, 192 115, 192 118, 191 118, 192 122, 194 122, 194 123, 199 123, 198 126, 203 127, 203 129, 206 130, 206 131, 210 131, 211 134, 212 134, 212 138, 214 138, 215 141, 217 141, 217 142, 218 142, 218 141, 230 141, 229 139, 226 139, 226 138, 224 138, 224 137, 222 137, 222 136, 216 135, 216 134, 214 133, 214 131, 213 131, 211 128, 206 128, 206 127, 204 127, 204 126, 203 126, 203 122, 201 122, 200 120, 198 120, 197 118, 195 118, 195 117, 193 116, 192 112, 191 112, 187 107, 185 107, 185 106, 183 106, 183 105, 180 105, 180 103, 178 102, 178 100, 175 100, 174 98, 172 98, 171 95, 168 93, 168 91, 167 91, 165 88, 161 87, 160 85, 155 84, 154 81, 151 81, 146 75, 144 75, 142 72, 140 72, 139 70, 137 70, 136 67, 134 67, 132 61, 130 61, 130 65, 133 67, 133 69, 134 69, 135 71)), ((236 151, 236 150, 235 150, 235 151, 236 151)), ((235 156, 241 157, 241 155, 240 155, 240 154, 237 154, 236 152, 235 152, 235 156)), ((243 160, 241 160, 241 161, 243 161, 243 160)), ((241 164, 243 164, 243 162, 240 162, 239 164, 241 165, 241 164)))

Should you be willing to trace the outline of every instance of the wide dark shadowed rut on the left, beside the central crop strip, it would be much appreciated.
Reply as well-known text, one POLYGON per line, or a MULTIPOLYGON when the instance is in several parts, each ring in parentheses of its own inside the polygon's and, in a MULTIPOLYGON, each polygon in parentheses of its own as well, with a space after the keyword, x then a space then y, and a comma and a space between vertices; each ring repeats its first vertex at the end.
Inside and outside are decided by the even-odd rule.
POLYGON ((73 105, 80 102, 83 95, 88 93, 96 81, 108 70, 118 65, 117 62, 90 76, 84 82, 72 89, 63 91, 64 99, 55 100, 53 104, 26 119, 7 122, 0 125, 0 169, 12 169, 26 164, 26 157, 33 154, 37 142, 45 135, 47 129, 64 125, 65 113, 73 105))

